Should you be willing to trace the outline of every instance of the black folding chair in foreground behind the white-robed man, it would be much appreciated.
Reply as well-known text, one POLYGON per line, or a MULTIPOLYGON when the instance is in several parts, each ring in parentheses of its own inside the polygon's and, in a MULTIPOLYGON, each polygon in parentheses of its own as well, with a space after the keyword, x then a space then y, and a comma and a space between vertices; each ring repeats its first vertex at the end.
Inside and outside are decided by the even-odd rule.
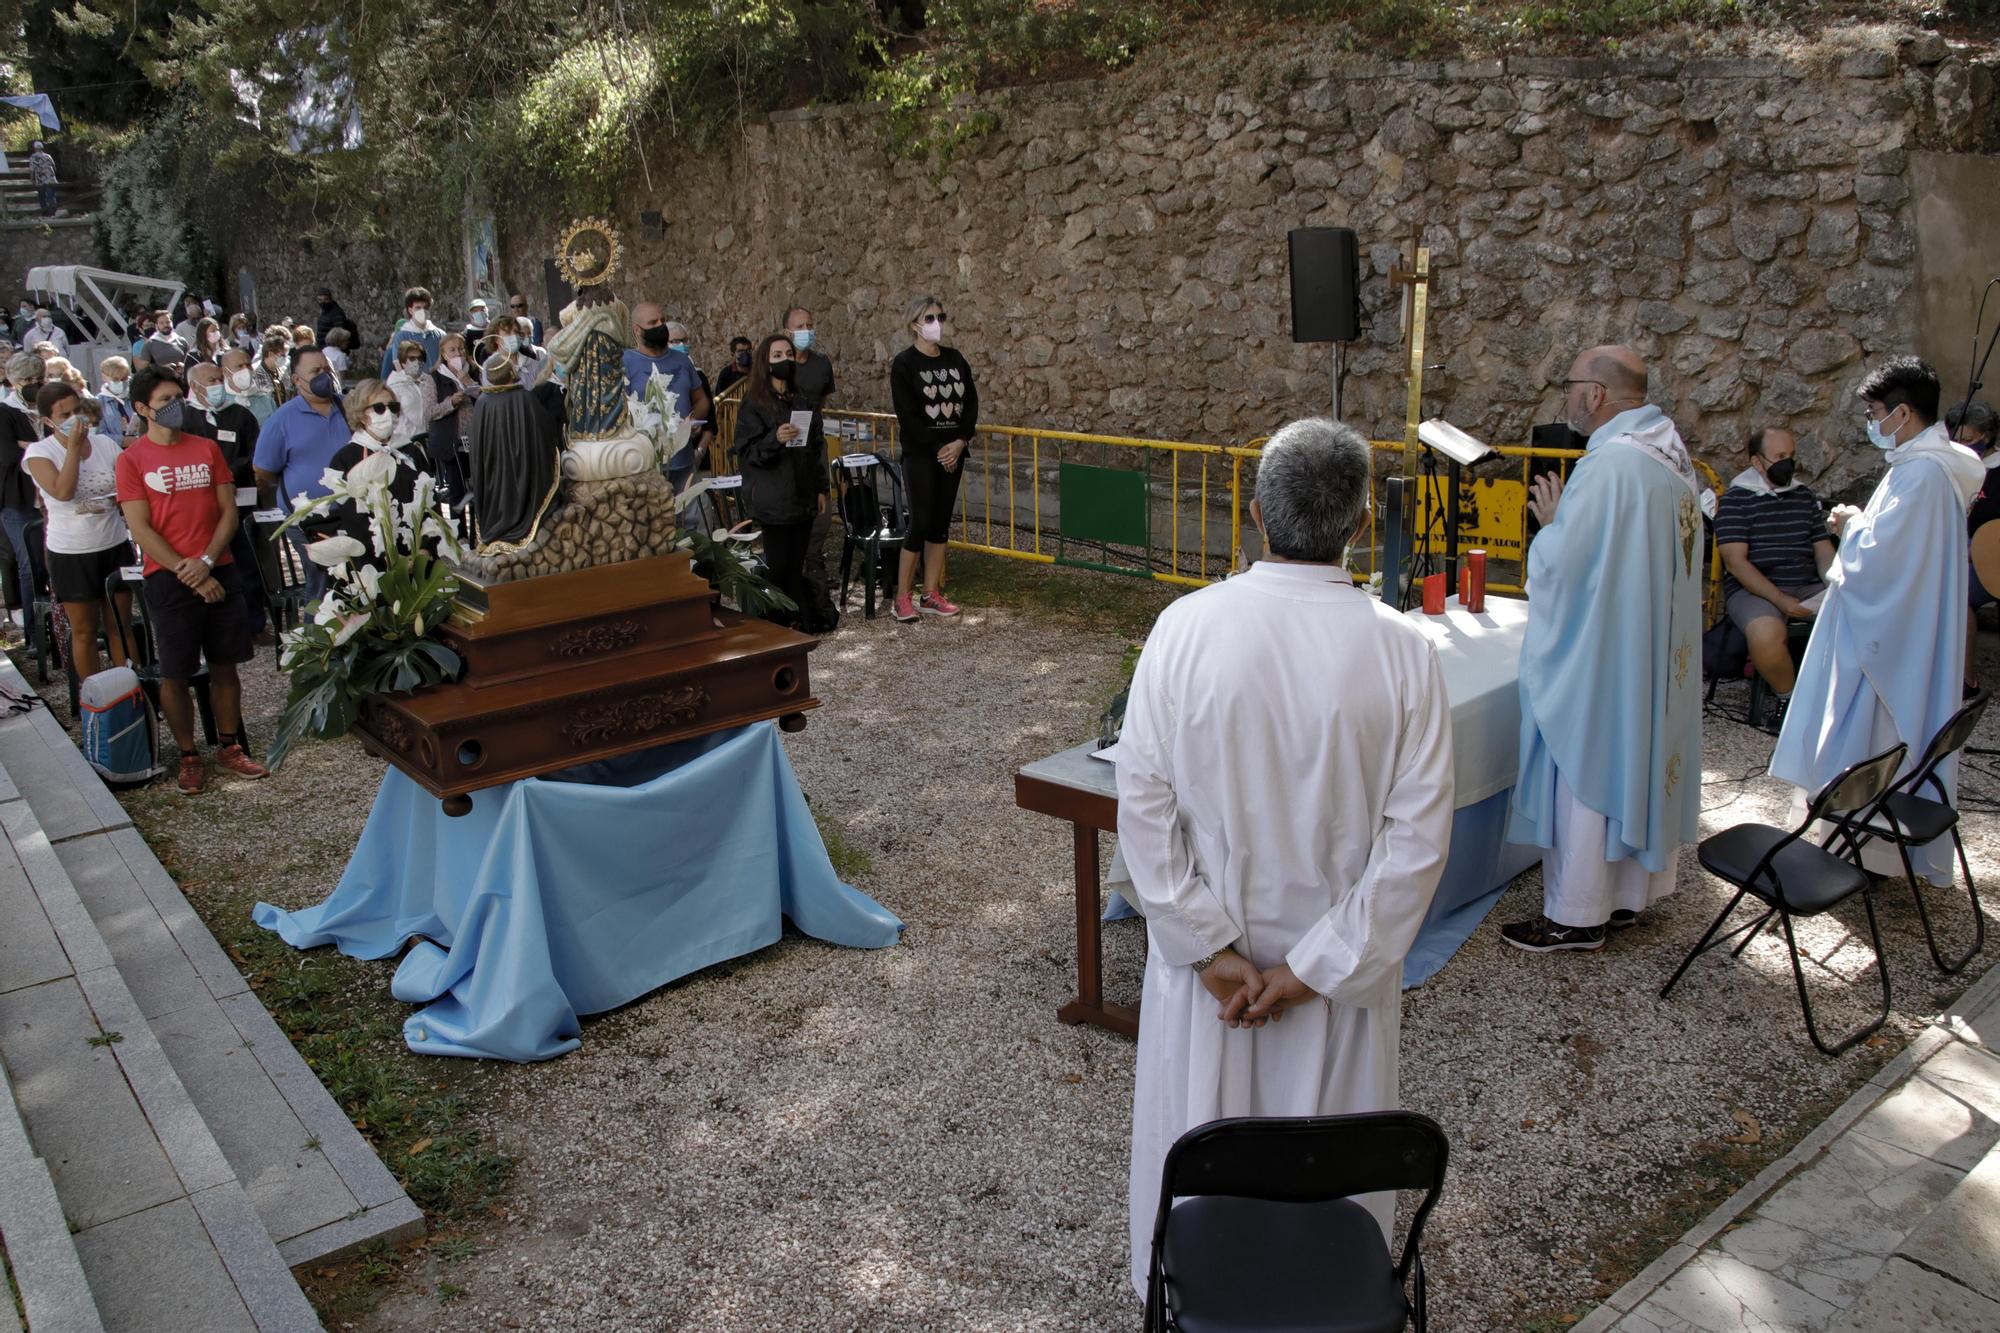
POLYGON ((1448 1153, 1436 1121, 1414 1111, 1190 1129, 1160 1179, 1146 1331, 1394 1333, 1414 1321, 1422 1333, 1418 1241, 1448 1153), (1354 1201, 1392 1189, 1424 1191, 1394 1263, 1354 1201))

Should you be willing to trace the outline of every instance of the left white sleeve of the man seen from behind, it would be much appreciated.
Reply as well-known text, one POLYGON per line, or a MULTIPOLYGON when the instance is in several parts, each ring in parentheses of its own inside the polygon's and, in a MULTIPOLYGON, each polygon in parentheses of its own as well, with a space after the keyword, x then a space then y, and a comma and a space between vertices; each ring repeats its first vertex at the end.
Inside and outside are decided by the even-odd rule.
POLYGON ((1118 737, 1118 849, 1160 957, 1176 967, 1242 937, 1196 863, 1174 795, 1174 701, 1166 683, 1168 634, 1138 658, 1118 737))

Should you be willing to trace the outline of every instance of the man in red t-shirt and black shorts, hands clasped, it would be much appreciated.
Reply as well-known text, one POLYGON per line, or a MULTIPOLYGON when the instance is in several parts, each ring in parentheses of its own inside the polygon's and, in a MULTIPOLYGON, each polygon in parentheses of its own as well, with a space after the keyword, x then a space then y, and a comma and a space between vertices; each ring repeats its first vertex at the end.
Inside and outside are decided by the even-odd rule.
POLYGON ((180 795, 208 783, 194 749, 194 699, 188 681, 208 656, 208 693, 222 749, 216 763, 246 779, 270 777, 244 751, 244 691, 238 662, 250 660, 250 612, 230 562, 236 534, 236 480, 222 448, 182 434, 182 386, 146 366, 132 376, 132 410, 146 434, 118 454, 118 506, 146 556, 146 618, 160 664, 160 711, 180 747, 180 795))

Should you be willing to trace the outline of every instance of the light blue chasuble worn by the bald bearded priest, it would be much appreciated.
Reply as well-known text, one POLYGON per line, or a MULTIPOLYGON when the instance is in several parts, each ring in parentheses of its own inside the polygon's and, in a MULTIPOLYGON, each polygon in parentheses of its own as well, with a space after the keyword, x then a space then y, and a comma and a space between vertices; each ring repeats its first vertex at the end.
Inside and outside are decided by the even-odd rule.
POLYGON ((1510 841, 1556 845, 1558 769, 1606 819, 1606 861, 1664 871, 1696 837, 1700 588, 1686 448, 1660 408, 1620 412, 1592 432, 1528 548, 1510 841))

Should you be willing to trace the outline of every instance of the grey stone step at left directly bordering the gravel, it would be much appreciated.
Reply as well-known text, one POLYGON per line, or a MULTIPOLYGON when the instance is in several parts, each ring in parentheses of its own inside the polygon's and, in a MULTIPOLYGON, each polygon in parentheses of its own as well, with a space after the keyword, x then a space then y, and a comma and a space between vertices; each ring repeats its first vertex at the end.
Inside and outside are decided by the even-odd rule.
MULTIPOLYGON (((0 679, 14 675, 0 658, 0 679)), ((14 675, 18 683, 18 675, 14 675)), ((354 1129, 46 711, 0 721, 0 769, 52 841, 138 1013, 288 1263, 422 1233, 354 1129)), ((4 795, 4 793, 0 793, 4 795)), ((0 819, 6 807, 0 807, 0 819)))

